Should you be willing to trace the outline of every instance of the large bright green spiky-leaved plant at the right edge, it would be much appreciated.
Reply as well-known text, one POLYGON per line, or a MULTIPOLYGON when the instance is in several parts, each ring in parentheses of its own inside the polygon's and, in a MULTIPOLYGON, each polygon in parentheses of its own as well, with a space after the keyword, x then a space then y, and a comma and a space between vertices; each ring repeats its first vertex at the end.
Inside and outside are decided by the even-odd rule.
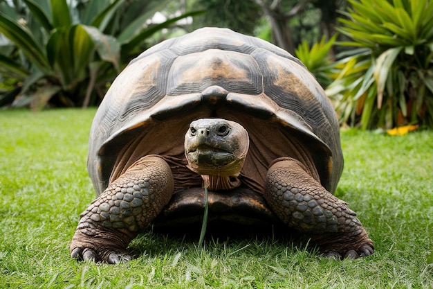
POLYGON ((340 44, 352 50, 336 62, 326 89, 341 121, 363 129, 433 128, 433 1, 349 3, 337 30, 351 38, 340 44))

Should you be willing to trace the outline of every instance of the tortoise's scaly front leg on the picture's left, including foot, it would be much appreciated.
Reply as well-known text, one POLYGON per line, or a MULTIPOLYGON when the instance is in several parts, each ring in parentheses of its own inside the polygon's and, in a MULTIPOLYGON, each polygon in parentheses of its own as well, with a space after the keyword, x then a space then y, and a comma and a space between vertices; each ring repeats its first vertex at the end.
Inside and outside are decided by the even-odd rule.
POLYGON ((156 155, 142 157, 80 215, 71 257, 107 263, 131 259, 129 242, 160 213, 173 190, 168 164, 156 155))

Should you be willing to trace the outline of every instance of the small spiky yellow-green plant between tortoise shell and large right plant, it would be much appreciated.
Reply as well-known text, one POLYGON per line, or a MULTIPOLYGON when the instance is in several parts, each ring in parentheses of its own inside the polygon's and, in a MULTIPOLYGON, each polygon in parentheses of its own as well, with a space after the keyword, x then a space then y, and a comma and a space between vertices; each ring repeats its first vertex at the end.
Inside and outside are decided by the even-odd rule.
POLYGON ((334 67, 334 62, 330 51, 336 38, 337 34, 326 41, 326 38, 323 36, 320 42, 316 42, 311 47, 306 40, 303 40, 301 44, 297 46, 297 49, 295 49, 297 58, 313 73, 322 87, 327 87, 332 82, 330 75, 334 67))

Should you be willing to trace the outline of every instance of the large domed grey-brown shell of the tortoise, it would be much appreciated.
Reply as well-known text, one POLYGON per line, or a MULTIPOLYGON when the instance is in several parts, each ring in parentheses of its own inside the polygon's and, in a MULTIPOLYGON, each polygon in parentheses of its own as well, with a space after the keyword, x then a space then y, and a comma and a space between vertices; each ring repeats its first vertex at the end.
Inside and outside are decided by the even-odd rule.
POLYGON ((90 132, 96 194, 144 155, 183 155, 190 122, 212 117, 248 130, 254 157, 244 166, 258 172, 258 184, 276 157, 307 154, 322 186, 335 191, 343 166, 338 121, 311 73, 264 40, 201 28, 151 47, 114 80, 90 132))

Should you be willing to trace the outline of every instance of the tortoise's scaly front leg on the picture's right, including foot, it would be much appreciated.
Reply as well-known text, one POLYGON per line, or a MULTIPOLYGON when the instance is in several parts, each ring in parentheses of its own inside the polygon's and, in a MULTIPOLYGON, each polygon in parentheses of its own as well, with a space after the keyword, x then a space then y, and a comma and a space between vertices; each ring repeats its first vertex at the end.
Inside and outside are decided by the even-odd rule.
POLYGON ((324 254, 358 258, 373 253, 356 213, 308 175, 300 161, 285 157, 270 166, 265 198, 286 225, 313 234, 324 254))

